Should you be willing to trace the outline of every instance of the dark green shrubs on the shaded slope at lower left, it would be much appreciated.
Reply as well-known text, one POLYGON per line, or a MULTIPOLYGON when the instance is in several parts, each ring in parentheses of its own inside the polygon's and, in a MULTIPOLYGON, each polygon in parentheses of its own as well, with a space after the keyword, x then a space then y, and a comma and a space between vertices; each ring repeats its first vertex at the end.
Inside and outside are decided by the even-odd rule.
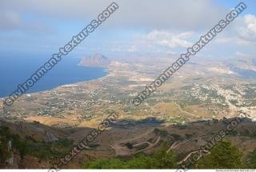
POLYGON ((6 126, 0 126, 0 166, 6 164, 12 152, 17 152, 21 159, 26 154, 33 155, 39 159, 60 158, 69 152, 73 142, 63 138, 56 142, 38 142, 31 136, 20 138, 18 134, 13 134, 6 126), (12 143, 12 149, 8 150, 8 142, 12 143))

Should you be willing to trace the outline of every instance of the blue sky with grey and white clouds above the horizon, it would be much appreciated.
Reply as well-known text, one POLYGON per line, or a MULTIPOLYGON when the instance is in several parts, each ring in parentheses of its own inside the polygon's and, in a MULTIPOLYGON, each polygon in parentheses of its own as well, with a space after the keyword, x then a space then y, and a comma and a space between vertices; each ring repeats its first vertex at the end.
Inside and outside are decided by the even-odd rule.
MULTIPOLYGON (((109 0, 0 1, 0 58, 54 54, 97 18, 109 0)), ((241 1, 116 0, 119 8, 71 53, 182 54, 241 1)), ((233 58, 256 53, 256 1, 198 54, 233 58)))

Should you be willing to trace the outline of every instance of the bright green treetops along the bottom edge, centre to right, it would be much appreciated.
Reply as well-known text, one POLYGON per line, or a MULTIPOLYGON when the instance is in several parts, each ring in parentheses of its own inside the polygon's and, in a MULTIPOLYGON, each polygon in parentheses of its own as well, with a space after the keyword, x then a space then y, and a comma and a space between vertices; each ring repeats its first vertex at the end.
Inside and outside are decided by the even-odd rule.
MULTIPOLYGON (((168 146, 164 142, 160 150, 154 154, 139 154, 134 158, 122 159, 96 159, 84 164, 85 169, 174 169, 179 168, 177 162, 186 154, 166 153, 168 146), (179 158, 178 158, 179 157, 179 158)), ((229 141, 218 142, 210 150, 210 154, 204 155, 190 168, 195 169, 244 169, 256 168, 256 150, 250 153, 245 161, 242 161, 242 153, 238 147, 232 146, 229 141), (245 162, 245 163, 242 163, 245 162)))

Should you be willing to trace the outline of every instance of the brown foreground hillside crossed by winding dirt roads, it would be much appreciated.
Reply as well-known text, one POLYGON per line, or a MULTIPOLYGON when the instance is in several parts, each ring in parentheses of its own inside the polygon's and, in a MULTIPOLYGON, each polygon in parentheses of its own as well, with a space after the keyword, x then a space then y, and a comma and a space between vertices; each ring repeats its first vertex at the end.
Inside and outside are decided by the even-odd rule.
MULTIPOLYGON (((214 134, 225 130, 226 125, 232 120, 234 119, 208 120, 170 126, 152 119, 141 122, 118 120, 108 130, 99 134, 94 142, 90 142, 89 150, 82 150, 63 168, 82 168, 88 161, 98 158, 126 160, 137 157, 138 154, 150 155, 161 150, 164 145, 167 146, 166 152, 171 151, 175 154, 178 166, 191 154, 198 152, 200 146, 212 140, 214 134)), ((9 168, 50 168, 51 164, 63 158, 73 146, 86 137, 86 133, 92 130, 79 127, 54 128, 38 122, 1 123, 1 130, 8 130, 1 132, 1 138, 13 142, 10 153, 16 157, 13 164, 6 164, 9 168), (47 133, 53 134, 58 140, 47 140, 47 133), (16 145, 23 145, 22 154, 14 142, 18 142, 16 145)), ((248 156, 256 149, 255 123, 245 119, 223 139, 238 147, 242 152, 241 161, 246 162, 248 156)), ((1 166, 3 167, 3 164, 1 166)))

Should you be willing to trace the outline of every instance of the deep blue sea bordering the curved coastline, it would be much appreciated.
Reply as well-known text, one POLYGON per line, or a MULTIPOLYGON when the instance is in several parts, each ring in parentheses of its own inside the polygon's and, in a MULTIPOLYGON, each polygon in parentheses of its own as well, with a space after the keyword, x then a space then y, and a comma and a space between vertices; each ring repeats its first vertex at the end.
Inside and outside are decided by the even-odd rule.
MULTIPOLYGON (((13 93, 18 84, 25 82, 40 66, 47 62, 48 57, 33 58, 24 55, 0 57, 0 97, 6 97, 13 93)), ((52 70, 49 70, 26 93, 51 90, 57 86, 106 76, 106 71, 103 68, 78 66, 79 62, 80 58, 62 58, 62 61, 58 62, 52 70)))

